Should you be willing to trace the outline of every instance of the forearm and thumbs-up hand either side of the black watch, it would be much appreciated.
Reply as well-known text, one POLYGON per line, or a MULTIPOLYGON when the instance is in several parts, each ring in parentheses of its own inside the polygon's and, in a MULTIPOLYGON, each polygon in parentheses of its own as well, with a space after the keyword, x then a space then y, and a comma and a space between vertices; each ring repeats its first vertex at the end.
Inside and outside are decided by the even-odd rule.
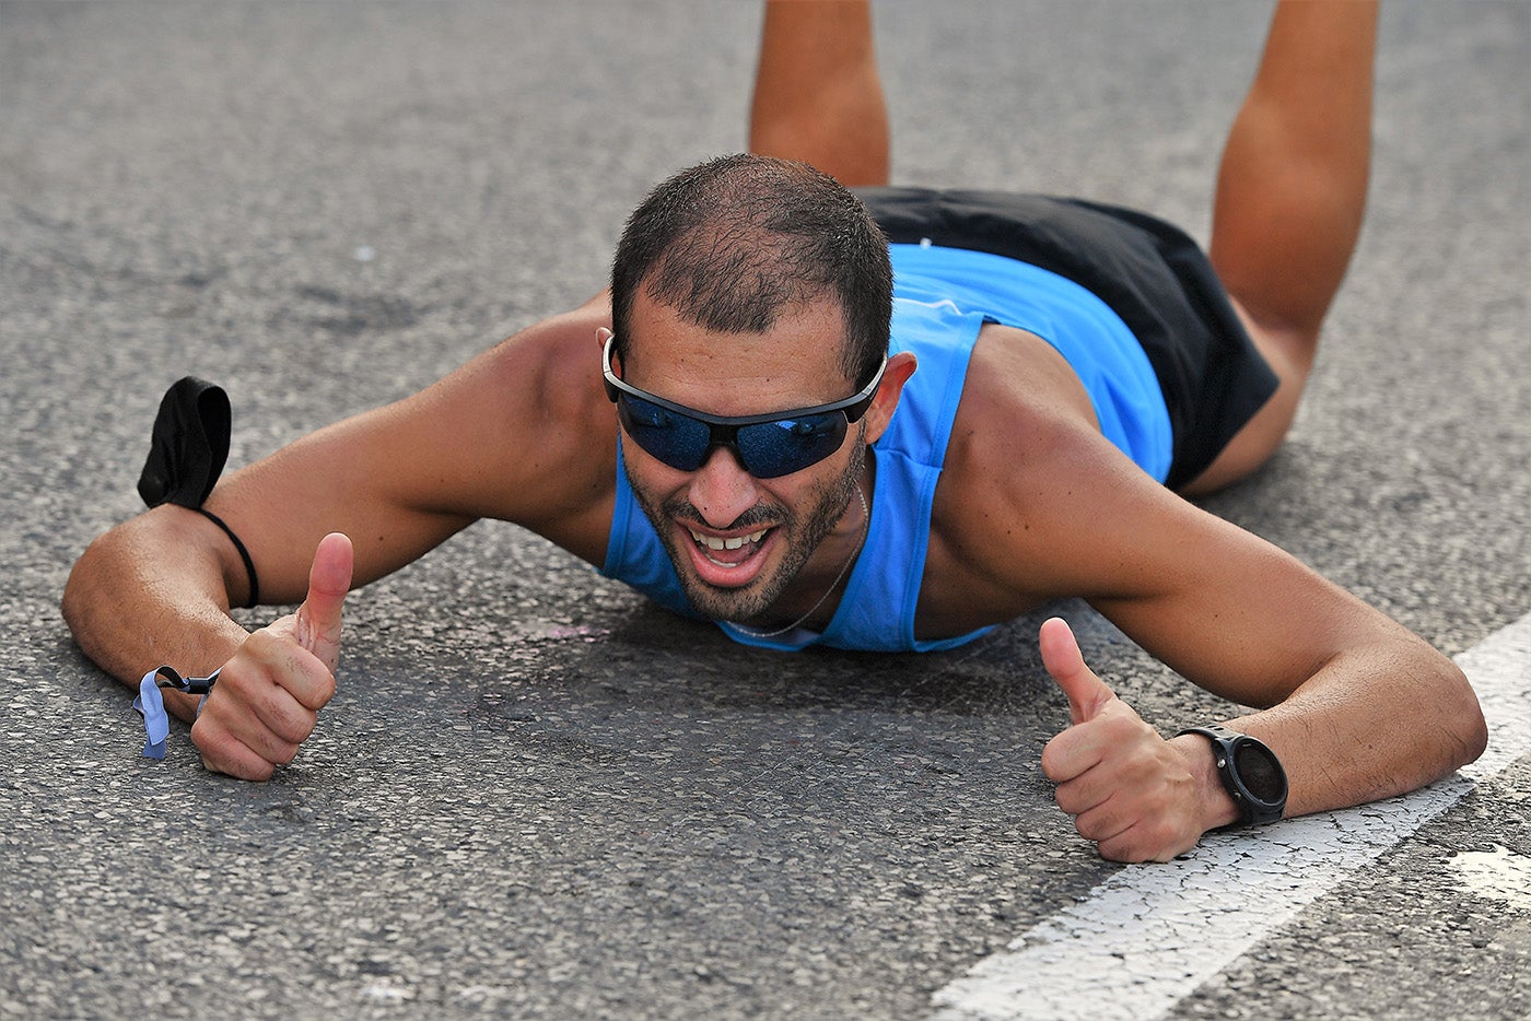
MULTIPOLYGON (((1047 742, 1043 770, 1079 834, 1108 859, 1167 862, 1245 817, 1209 739, 1159 735, 1084 666, 1055 623, 1043 626, 1043 661, 1069 695, 1073 726, 1047 742)), ((1487 732, 1467 678, 1398 634, 1332 657, 1278 706, 1226 721, 1280 759, 1286 816, 1401 794, 1482 753, 1487 732)))

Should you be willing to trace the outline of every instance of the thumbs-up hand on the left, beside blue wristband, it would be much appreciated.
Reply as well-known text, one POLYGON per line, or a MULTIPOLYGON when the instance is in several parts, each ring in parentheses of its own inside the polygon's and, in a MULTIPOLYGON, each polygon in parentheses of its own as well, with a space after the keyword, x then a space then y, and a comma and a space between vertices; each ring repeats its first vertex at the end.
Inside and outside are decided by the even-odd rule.
POLYGON ((202 764, 240 779, 269 779, 314 733, 335 695, 341 605, 351 589, 351 539, 325 536, 297 612, 251 634, 224 664, 191 727, 202 764))

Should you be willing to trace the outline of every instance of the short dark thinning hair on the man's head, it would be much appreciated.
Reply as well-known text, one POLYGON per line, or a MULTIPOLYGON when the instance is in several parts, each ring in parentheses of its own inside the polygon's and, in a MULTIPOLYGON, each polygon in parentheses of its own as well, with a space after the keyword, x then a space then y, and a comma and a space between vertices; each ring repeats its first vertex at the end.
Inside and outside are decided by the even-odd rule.
POLYGON ((764 332, 784 309, 830 294, 845 318, 845 375, 865 384, 888 354, 888 240, 860 199, 807 164, 739 153, 655 187, 611 266, 619 354, 638 288, 729 334, 764 332))

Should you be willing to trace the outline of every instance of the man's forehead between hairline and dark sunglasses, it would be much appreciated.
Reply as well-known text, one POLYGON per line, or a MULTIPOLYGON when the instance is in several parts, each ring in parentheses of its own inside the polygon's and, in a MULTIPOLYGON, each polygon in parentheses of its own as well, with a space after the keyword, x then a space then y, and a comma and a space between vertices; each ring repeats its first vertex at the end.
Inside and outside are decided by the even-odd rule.
POLYGON ((845 315, 828 297, 784 309, 762 332, 720 332, 638 295, 622 375, 703 412, 755 415, 847 396, 845 343, 845 315))

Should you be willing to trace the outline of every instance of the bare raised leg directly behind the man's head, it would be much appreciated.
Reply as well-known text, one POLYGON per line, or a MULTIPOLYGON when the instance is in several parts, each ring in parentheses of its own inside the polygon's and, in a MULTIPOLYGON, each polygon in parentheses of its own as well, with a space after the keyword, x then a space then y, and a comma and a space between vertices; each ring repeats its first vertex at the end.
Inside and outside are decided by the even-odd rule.
POLYGON ((870 0, 767 0, 750 152, 801 159, 848 187, 888 182, 870 0))

